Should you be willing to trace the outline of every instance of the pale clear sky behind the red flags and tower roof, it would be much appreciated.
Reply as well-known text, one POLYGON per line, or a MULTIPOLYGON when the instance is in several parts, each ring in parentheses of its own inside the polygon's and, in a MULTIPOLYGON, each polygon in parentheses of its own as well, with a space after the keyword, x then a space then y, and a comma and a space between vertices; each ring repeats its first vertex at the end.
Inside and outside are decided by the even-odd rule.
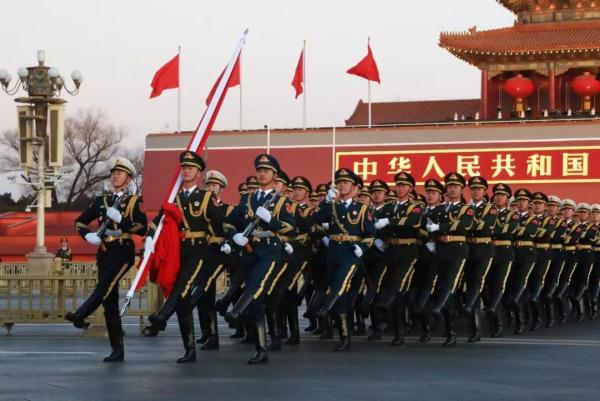
MULTIPOLYGON (((104 109, 126 127, 130 143, 176 128, 177 92, 149 100, 154 72, 182 46, 182 128, 196 127, 204 99, 245 28, 244 127, 302 125, 302 100, 290 85, 307 40, 308 125, 342 125, 366 81, 345 71, 366 54, 367 37, 381 85, 373 101, 478 97, 479 72, 438 46, 441 31, 509 26, 515 16, 494 0, 304 1, 6 1, 2 3, 0 68, 46 64, 84 82, 67 114, 104 109)), ((21 93, 20 95, 23 95, 21 93)), ((239 126, 239 89, 228 94, 215 129, 239 126)), ((0 130, 16 127, 13 97, 0 93, 0 130)))

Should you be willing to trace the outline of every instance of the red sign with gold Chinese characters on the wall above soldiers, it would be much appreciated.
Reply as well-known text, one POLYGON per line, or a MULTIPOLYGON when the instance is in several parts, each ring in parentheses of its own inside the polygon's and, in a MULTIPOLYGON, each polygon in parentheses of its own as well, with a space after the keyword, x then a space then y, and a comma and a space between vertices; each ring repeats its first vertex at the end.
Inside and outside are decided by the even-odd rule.
POLYGON ((394 174, 410 173, 422 184, 456 171, 490 183, 600 182, 600 146, 511 147, 337 152, 337 166, 352 168, 370 183, 393 183, 394 174))

